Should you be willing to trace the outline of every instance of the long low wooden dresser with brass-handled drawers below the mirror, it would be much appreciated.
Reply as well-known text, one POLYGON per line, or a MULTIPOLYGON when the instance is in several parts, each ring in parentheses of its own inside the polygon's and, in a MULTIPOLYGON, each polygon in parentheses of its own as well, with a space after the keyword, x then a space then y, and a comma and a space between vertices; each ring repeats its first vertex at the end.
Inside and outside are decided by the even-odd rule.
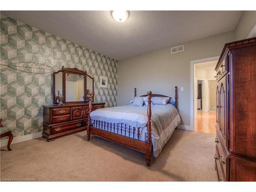
MULTIPOLYGON (((104 108, 105 103, 93 103, 92 110, 104 108)), ((44 106, 44 130, 47 141, 56 137, 85 130, 88 125, 88 103, 44 106)))

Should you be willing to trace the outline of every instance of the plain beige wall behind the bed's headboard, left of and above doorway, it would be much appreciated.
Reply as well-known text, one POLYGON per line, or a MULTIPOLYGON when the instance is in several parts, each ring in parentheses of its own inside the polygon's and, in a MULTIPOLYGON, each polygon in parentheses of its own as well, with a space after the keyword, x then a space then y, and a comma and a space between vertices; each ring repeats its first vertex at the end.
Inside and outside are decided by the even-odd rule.
POLYGON ((170 54, 170 48, 118 61, 118 105, 129 103, 134 96, 148 90, 174 97, 174 87, 183 87, 178 92, 178 108, 181 124, 190 124, 190 61, 221 54, 226 42, 234 40, 234 31, 187 42, 184 51, 170 54))

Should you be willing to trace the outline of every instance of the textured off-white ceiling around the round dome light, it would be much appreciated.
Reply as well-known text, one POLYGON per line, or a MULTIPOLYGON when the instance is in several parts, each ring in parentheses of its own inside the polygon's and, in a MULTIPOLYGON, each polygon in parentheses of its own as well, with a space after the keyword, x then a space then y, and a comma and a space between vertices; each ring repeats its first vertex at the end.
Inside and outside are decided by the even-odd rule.
POLYGON ((103 55, 124 59, 234 30, 242 11, 2 11, 2 14, 103 55))

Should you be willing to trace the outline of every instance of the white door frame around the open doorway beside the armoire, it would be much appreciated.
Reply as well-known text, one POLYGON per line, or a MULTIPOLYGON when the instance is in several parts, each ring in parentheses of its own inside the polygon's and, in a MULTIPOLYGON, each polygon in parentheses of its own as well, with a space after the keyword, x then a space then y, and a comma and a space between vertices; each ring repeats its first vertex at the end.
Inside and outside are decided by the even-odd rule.
POLYGON ((194 131, 194 74, 195 74, 195 64, 199 62, 207 62, 212 60, 218 60, 220 56, 202 58, 190 61, 190 131, 194 131))

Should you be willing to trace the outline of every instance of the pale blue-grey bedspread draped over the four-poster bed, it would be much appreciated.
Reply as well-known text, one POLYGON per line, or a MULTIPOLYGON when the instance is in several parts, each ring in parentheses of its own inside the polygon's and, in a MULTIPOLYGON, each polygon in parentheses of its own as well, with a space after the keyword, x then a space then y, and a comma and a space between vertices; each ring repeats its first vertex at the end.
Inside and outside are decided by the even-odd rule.
MULTIPOLYGON (((180 115, 172 104, 154 105, 151 111, 153 156, 157 157, 162 151, 164 144, 172 136, 175 127, 180 124, 180 115)), ((140 127, 139 140, 146 141, 147 106, 124 105, 103 108, 93 111, 90 116, 92 120, 122 123, 123 125, 124 123, 129 124, 131 127, 135 127, 135 133, 137 133, 138 127, 140 127)), ((128 137, 127 134, 127 132, 126 135, 124 135, 124 132, 122 133, 122 135, 128 137)))

